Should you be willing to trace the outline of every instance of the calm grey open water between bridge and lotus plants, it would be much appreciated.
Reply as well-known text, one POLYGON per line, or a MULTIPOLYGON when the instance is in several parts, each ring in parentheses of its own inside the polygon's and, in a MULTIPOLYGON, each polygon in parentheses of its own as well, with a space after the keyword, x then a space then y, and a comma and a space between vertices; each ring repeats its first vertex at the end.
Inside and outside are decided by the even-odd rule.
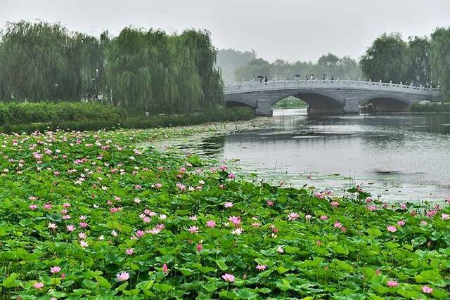
POLYGON ((360 184, 385 200, 450 197, 450 115, 307 117, 276 110, 265 129, 210 138, 217 158, 277 183, 331 188, 360 184))

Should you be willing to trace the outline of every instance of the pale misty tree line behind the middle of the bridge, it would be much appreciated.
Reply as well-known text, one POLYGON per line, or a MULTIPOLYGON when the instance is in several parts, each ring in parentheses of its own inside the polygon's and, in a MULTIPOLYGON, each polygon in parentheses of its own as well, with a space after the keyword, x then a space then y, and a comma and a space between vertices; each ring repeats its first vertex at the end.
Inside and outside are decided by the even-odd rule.
POLYGON ((306 76, 310 77, 311 74, 314 74, 314 78, 322 78, 325 74, 327 78, 335 79, 359 79, 362 76, 356 60, 348 56, 339 58, 333 53, 324 54, 317 63, 304 61, 289 63, 281 59, 269 63, 262 58, 255 58, 235 71, 238 81, 257 79, 258 76, 283 80, 294 79, 296 75, 300 75, 300 79, 306 79, 306 76))

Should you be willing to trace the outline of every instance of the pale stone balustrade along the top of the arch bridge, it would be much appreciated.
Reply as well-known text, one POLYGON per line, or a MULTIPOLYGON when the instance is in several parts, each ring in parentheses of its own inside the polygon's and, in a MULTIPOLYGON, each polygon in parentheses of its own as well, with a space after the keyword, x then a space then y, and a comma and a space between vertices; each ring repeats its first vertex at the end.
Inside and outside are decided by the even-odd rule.
POLYGON ((439 89, 425 88, 406 84, 392 84, 359 80, 271 80, 268 82, 245 81, 225 84, 224 93, 246 93, 252 91, 271 91, 280 89, 365 89, 377 91, 397 91, 401 93, 416 93, 424 95, 439 95, 439 89))

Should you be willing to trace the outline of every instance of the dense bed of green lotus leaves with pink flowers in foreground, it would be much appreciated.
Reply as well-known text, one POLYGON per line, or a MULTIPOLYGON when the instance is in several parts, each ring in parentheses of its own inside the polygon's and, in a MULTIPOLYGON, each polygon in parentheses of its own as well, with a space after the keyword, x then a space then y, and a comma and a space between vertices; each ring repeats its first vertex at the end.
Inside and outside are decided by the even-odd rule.
POLYGON ((448 298, 448 203, 243 181, 136 147, 200 130, 174 132, 0 136, 1 296, 448 298))

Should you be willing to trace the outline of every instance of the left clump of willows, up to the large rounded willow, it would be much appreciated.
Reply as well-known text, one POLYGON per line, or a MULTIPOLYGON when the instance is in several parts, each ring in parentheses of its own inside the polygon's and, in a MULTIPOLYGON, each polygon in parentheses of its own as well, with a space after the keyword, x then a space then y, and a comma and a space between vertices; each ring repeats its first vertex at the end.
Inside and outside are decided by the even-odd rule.
POLYGON ((8 23, 0 41, 0 100, 80 100, 94 96, 103 64, 99 41, 56 23, 8 23))

